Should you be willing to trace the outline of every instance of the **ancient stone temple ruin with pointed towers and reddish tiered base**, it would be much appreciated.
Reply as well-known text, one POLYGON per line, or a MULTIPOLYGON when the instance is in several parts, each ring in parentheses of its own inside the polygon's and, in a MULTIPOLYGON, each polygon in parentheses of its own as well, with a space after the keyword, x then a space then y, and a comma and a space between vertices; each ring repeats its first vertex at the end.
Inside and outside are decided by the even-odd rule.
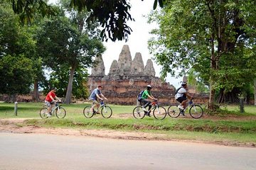
POLYGON ((151 84, 151 94, 159 98, 161 104, 175 103, 175 87, 156 77, 153 62, 149 59, 144 66, 142 54, 137 52, 134 60, 129 46, 124 45, 119 59, 114 60, 109 74, 105 75, 105 65, 101 56, 96 58, 97 66, 92 68, 88 86, 90 91, 102 85, 102 93, 108 98, 108 103, 135 105, 139 91, 151 84))

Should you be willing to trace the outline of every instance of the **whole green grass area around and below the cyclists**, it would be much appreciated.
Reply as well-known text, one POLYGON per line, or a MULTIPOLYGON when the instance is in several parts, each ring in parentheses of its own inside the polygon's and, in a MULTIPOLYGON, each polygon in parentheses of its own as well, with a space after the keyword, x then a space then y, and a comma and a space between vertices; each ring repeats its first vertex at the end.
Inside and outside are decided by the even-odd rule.
POLYGON ((109 105, 113 110, 113 118, 104 119, 101 115, 96 115, 87 119, 82 115, 82 111, 85 106, 90 106, 90 103, 63 105, 67 111, 64 119, 54 117, 43 120, 38 114, 42 106, 43 103, 18 103, 18 115, 15 116, 14 103, 0 103, 0 118, 32 118, 26 120, 21 126, 122 130, 153 135, 162 134, 166 139, 249 142, 256 145, 255 106, 245 106, 245 113, 239 113, 238 106, 225 106, 217 114, 207 115, 201 119, 168 116, 164 120, 148 117, 136 120, 132 117, 134 106, 117 105, 109 105), (122 114, 128 117, 117 116, 122 114))

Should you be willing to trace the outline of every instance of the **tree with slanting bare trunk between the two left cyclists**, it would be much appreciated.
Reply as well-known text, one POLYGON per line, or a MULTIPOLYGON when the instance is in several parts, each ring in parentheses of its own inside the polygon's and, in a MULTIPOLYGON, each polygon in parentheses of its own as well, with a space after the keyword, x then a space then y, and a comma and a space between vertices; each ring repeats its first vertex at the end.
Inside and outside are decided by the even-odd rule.
POLYGON ((65 103, 71 102, 75 70, 90 67, 94 63, 93 57, 105 50, 97 37, 79 33, 78 29, 64 17, 46 21, 38 31, 37 45, 48 67, 53 70, 63 66, 70 68, 65 103))

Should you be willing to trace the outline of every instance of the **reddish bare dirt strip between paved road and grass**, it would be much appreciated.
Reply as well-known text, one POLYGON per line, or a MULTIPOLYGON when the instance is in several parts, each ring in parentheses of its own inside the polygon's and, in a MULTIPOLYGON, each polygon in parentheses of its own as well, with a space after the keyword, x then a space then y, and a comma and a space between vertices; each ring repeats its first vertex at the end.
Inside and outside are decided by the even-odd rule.
POLYGON ((53 134, 53 135, 75 135, 75 136, 92 136, 92 137, 107 137, 112 139, 122 140, 170 140, 170 141, 182 141, 182 142, 198 142, 209 143, 215 145, 227 145, 238 147, 255 147, 252 144, 244 144, 239 142, 205 142, 197 140, 177 140, 170 137, 166 137, 164 134, 153 134, 146 132, 125 132, 119 130, 88 130, 79 128, 43 128, 35 125, 21 125, 24 120, 28 118, 11 118, 0 120, 0 132, 11 133, 37 133, 37 134, 53 134))

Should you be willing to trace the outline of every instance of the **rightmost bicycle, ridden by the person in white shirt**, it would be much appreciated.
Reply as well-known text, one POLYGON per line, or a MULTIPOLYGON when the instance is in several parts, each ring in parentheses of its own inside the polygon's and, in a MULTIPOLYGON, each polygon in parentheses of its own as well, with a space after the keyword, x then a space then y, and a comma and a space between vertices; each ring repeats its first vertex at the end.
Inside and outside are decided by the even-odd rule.
POLYGON ((168 115, 171 118, 178 118, 179 115, 185 115, 186 109, 188 109, 188 113, 191 115, 192 118, 201 118, 203 115, 203 108, 198 105, 193 103, 192 99, 191 101, 188 102, 187 106, 185 109, 178 108, 178 104, 172 104, 168 108, 168 115))

